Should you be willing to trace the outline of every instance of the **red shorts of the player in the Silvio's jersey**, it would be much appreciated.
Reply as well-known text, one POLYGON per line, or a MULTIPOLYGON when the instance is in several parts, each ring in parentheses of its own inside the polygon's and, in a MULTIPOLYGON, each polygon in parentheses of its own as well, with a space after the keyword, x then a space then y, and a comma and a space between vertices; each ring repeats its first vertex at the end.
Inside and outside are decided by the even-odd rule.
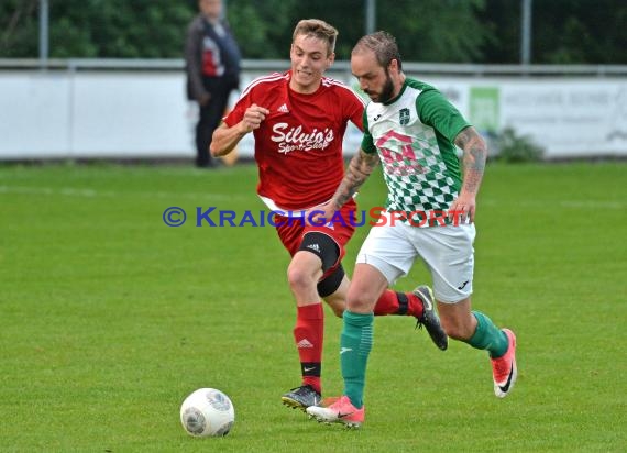
POLYGON ((338 244, 340 256, 336 264, 324 273, 322 276, 322 278, 324 278, 338 268, 346 253, 344 247, 355 232, 356 208, 355 201, 350 200, 342 207, 342 209, 336 212, 332 225, 327 223, 319 226, 307 225, 301 218, 289 219, 284 216, 275 214, 274 222, 276 224, 276 232, 290 256, 294 256, 300 248, 300 243, 302 242, 305 234, 317 231, 330 236, 336 244, 338 244))

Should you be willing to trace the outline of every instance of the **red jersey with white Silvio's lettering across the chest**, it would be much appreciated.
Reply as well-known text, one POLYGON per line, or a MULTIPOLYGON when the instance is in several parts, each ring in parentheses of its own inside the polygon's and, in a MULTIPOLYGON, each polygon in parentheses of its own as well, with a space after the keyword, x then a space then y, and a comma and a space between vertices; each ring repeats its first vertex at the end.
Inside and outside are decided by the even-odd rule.
POLYGON ((322 78, 316 92, 301 95, 289 88, 290 77, 287 71, 253 80, 224 122, 232 128, 253 103, 270 110, 253 131, 257 194, 272 209, 300 210, 328 201, 336 192, 344 176, 348 121, 363 130, 364 101, 329 77, 322 78))

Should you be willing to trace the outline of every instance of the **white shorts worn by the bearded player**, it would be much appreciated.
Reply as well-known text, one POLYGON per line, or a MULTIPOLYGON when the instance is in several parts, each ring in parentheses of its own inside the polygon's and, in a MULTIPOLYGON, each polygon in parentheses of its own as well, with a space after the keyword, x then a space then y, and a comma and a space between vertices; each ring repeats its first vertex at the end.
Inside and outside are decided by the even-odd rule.
POLYGON ((420 257, 431 273, 437 300, 454 303, 472 294, 473 223, 417 228, 398 220, 392 225, 387 220, 384 226, 372 226, 358 263, 376 267, 392 286, 420 257))

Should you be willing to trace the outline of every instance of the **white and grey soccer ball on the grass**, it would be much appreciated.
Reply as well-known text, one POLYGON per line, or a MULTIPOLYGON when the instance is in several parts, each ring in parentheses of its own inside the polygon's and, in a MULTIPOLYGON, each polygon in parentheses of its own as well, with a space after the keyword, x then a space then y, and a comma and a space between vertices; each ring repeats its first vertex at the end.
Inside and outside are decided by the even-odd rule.
POLYGON ((180 422, 185 431, 194 437, 227 435, 235 422, 235 409, 222 391, 199 388, 183 401, 180 422))

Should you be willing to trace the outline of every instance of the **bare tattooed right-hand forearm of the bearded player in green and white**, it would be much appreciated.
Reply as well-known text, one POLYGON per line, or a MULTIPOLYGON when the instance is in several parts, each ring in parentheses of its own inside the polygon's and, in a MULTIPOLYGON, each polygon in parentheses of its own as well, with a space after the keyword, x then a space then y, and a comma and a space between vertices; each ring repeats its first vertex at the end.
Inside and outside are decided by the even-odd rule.
POLYGON ((449 218, 455 213, 461 214, 462 221, 468 217, 474 222, 476 195, 483 179, 487 145, 473 126, 458 134, 455 145, 463 150, 463 179, 460 195, 451 205, 449 218))

